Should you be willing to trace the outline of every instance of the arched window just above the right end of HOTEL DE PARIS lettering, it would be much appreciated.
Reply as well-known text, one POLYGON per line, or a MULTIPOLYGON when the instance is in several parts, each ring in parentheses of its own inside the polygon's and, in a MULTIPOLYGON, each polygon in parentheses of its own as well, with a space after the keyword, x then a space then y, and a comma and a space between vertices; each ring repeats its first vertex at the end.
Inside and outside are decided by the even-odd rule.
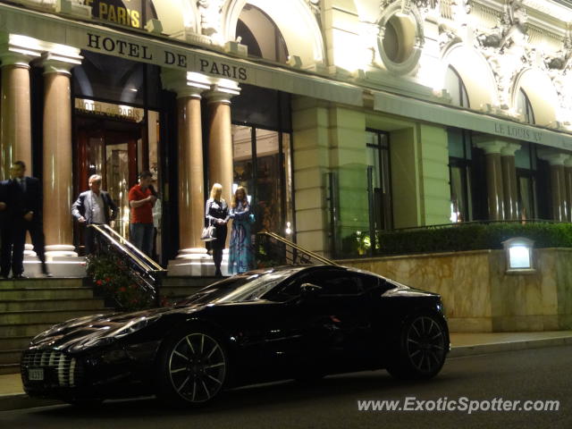
POLYGON ((288 61, 288 49, 280 30, 270 17, 256 6, 247 4, 240 13, 236 36, 248 46, 248 55, 277 63, 288 61))

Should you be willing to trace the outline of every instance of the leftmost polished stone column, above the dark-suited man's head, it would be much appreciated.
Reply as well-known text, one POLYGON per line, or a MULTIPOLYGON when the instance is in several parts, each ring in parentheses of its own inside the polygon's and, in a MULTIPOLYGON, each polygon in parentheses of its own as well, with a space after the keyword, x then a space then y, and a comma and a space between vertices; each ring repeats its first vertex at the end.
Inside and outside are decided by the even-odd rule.
POLYGON ((10 166, 17 160, 26 163, 27 174, 33 175, 29 62, 34 56, 9 49, 4 47, 4 53, 0 54, 0 180, 10 178, 10 166))

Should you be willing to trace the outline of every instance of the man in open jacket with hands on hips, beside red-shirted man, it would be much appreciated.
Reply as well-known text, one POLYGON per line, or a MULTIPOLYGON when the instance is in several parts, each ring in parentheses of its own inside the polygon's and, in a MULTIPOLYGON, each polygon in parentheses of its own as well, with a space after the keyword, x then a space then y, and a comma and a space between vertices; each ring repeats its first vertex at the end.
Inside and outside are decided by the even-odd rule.
MULTIPOLYGON (((101 176, 93 174, 88 183, 89 190, 80 193, 80 197, 71 206, 71 214, 80 224, 86 226, 113 221, 117 216, 117 206, 111 196, 101 189, 101 176)), ((86 255, 89 255, 95 250, 93 229, 86 228, 84 237, 86 255)))

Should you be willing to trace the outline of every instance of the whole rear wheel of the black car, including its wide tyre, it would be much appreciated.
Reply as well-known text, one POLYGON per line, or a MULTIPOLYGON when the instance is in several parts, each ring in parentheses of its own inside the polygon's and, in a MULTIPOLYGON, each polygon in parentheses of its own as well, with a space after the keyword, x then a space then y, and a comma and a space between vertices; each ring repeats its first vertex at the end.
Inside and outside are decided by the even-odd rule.
POLYGON ((416 315, 404 324, 399 349, 387 371, 396 378, 431 378, 441 371, 446 355, 446 330, 442 321, 435 315, 416 315))

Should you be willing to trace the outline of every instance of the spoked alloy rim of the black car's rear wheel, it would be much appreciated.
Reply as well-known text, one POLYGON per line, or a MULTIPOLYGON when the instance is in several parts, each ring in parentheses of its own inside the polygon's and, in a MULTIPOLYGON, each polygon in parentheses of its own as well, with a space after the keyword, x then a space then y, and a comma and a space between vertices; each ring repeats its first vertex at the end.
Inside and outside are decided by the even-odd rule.
POLYGON ((406 331, 408 361, 419 374, 436 374, 445 360, 445 333, 433 316, 419 315, 406 331))

